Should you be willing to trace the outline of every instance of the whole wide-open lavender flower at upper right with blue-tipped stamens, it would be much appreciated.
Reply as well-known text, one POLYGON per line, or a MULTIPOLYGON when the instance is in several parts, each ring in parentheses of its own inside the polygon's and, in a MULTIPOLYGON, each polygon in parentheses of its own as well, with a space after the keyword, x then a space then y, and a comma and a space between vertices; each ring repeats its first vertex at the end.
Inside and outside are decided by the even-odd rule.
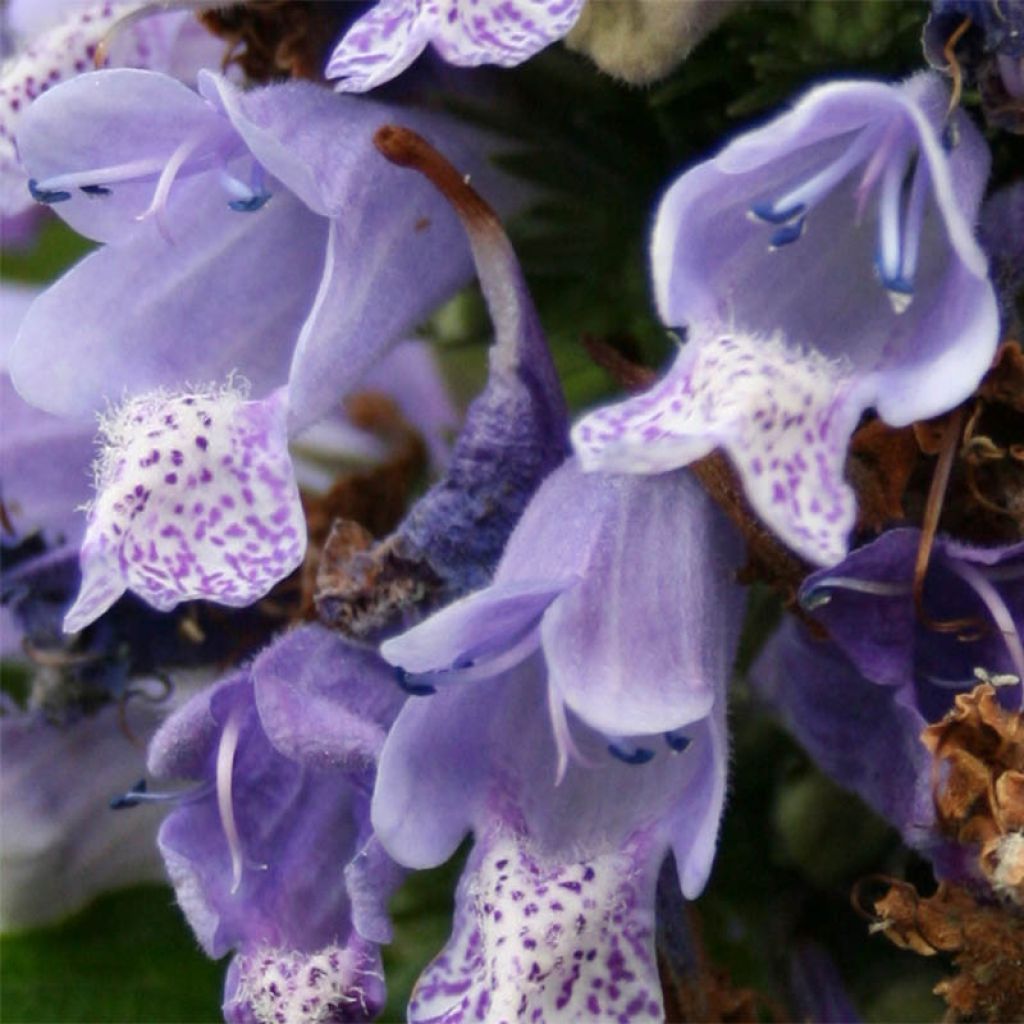
POLYGON ((984 142, 935 76, 837 82, 679 178, 651 245, 687 341, 646 394, 578 424, 588 469, 653 473, 723 447, 797 553, 839 561, 855 517, 847 442, 873 407, 902 426, 966 398, 998 314, 972 233, 984 142))

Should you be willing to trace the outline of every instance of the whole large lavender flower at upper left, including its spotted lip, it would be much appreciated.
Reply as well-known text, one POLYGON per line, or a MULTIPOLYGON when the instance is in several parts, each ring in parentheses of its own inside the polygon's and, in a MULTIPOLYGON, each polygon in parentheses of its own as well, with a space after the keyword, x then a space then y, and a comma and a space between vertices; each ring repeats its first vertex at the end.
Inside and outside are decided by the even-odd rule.
MULTIPOLYGON (((243 94, 206 73, 200 89, 82 76, 19 135, 37 197, 108 245, 33 305, 12 377, 69 417, 130 396, 104 419, 69 630, 126 588, 163 609, 242 605, 292 571, 305 527, 289 434, 468 273, 444 203, 371 145, 391 109, 303 84, 243 94)), ((401 117, 496 181, 475 136, 401 117)))

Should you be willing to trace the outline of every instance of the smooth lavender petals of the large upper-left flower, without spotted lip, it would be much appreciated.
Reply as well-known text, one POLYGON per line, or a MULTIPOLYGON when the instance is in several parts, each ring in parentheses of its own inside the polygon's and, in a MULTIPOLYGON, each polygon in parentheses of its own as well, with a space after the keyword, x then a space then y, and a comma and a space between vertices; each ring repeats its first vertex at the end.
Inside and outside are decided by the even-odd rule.
POLYGON ((396 118, 501 205, 479 133, 308 83, 114 70, 41 97, 19 132, 36 196, 105 245, 27 315, 18 390, 87 417, 238 373, 256 399, 289 384, 293 429, 321 419, 471 272, 444 201, 372 144, 396 118))

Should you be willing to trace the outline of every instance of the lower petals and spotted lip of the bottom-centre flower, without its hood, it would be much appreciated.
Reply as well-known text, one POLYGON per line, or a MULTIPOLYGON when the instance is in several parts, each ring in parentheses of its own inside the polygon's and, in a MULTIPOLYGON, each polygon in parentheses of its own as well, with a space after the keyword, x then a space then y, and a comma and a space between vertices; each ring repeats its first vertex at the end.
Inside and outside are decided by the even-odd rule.
POLYGON ((372 813, 388 853, 426 867, 474 835, 452 937, 413 991, 411 1021, 664 1019, 658 869, 672 849, 688 897, 707 880, 724 706, 645 764, 574 728, 584 760, 556 784, 546 687, 535 655, 486 684, 410 700, 388 735, 372 813))

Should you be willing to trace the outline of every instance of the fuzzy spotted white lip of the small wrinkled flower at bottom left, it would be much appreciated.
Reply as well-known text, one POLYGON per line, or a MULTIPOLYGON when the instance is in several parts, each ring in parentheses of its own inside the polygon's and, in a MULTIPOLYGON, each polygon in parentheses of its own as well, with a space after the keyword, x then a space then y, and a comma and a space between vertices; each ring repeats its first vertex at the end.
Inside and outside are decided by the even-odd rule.
POLYGON ((378 965, 364 951, 327 946, 301 953, 267 946, 241 954, 236 966, 239 987, 224 1008, 228 1020, 334 1024, 370 1020, 379 1009, 378 965))

